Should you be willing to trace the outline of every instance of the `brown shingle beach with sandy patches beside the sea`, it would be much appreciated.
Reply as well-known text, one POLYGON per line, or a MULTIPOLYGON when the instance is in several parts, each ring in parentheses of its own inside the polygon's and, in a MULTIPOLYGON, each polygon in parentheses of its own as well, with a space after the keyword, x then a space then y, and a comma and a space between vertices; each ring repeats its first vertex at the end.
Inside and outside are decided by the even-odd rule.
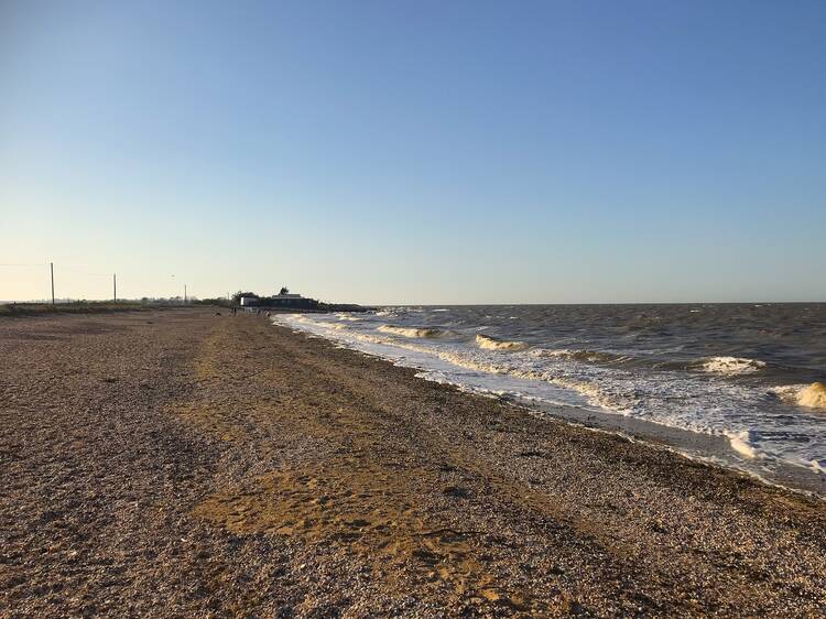
POLYGON ((0 617, 824 615, 823 501, 222 313, 0 319, 0 617))

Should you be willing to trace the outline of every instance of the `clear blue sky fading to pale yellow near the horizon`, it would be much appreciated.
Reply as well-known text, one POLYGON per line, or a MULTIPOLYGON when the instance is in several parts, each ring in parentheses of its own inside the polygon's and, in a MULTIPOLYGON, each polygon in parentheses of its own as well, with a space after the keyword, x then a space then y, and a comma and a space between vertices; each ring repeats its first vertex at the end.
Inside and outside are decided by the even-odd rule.
POLYGON ((826 2, 0 0, 0 298, 826 301, 826 2))

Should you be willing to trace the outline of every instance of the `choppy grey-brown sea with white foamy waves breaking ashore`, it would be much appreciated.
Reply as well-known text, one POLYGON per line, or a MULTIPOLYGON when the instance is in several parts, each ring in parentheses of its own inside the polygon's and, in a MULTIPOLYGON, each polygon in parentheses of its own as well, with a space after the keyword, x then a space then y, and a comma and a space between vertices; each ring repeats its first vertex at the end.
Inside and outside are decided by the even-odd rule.
POLYGON ((392 306, 273 322, 826 495, 826 303, 392 306))

